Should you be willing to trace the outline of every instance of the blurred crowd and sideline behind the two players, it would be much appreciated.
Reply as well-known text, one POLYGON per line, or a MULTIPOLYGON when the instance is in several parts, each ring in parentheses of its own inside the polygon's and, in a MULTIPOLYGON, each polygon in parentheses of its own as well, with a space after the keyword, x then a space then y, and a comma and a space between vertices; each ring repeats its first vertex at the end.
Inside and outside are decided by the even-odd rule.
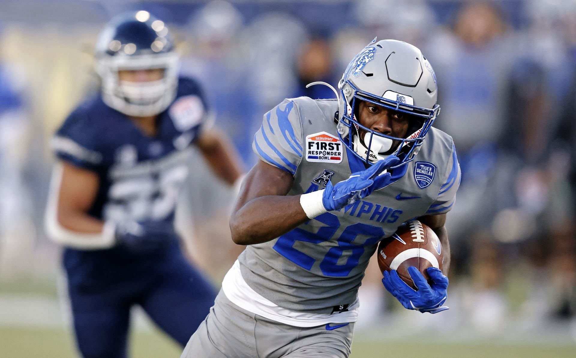
MULTIPOLYGON (((374 36, 422 49, 438 78, 434 125, 453 136, 462 169, 448 214, 451 310, 410 315, 371 267, 358 330, 396 322, 451 337, 562 332, 576 341, 576 0, 1 0, 0 8, 0 326, 66 324, 51 289, 59 247, 43 231, 50 138, 97 90, 92 51, 102 26, 143 9, 176 34, 181 71, 202 82, 247 169, 262 115, 283 98, 332 98, 305 85, 336 85, 374 36)), ((191 165, 179 227, 191 260, 219 285, 239 252, 228 232, 234 193, 200 159, 191 165)))

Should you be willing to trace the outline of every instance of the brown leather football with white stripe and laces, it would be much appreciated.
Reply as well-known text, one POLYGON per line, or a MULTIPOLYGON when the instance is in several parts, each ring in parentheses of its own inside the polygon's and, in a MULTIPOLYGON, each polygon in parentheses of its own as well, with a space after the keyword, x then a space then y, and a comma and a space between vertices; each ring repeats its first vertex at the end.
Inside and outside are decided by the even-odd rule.
POLYGON ((429 226, 418 220, 402 224, 396 233, 378 245, 380 271, 395 269, 398 276, 412 288, 416 287, 408 274, 408 267, 415 266, 426 280, 430 280, 426 269, 431 266, 442 269, 443 258, 442 244, 438 236, 429 226))

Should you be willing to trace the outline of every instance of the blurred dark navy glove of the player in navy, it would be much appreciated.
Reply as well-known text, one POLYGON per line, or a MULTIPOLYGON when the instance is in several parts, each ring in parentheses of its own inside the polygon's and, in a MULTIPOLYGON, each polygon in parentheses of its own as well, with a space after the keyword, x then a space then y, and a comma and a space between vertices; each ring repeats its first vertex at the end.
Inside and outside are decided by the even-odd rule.
POLYGON ((153 252, 177 239, 172 222, 146 220, 116 226, 116 242, 134 253, 153 252))

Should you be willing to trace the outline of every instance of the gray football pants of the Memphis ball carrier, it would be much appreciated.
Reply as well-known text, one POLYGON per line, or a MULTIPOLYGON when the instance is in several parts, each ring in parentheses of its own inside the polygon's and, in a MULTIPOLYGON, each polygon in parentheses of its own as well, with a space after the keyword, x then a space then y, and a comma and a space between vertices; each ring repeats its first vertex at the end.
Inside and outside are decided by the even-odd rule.
POLYGON ((354 323, 327 330, 271 321, 236 306, 220 290, 180 358, 347 358, 353 332, 354 323))

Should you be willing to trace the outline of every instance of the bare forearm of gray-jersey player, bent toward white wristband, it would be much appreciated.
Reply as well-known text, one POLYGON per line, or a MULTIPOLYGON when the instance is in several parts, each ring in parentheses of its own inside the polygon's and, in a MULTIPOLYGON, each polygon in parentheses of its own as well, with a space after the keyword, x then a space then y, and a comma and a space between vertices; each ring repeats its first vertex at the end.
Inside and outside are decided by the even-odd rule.
POLYGON ((232 240, 238 245, 267 242, 310 220, 300 195, 257 197, 230 218, 232 240))

